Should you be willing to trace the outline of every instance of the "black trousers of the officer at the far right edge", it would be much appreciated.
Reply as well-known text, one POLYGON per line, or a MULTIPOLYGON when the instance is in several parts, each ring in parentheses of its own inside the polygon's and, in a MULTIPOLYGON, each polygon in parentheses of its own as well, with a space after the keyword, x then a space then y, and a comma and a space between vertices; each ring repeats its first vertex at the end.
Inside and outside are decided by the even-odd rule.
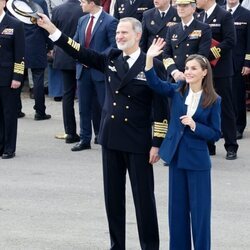
POLYGON ((236 128, 243 133, 247 125, 246 112, 246 83, 241 71, 235 72, 233 76, 233 104, 236 115, 236 128))

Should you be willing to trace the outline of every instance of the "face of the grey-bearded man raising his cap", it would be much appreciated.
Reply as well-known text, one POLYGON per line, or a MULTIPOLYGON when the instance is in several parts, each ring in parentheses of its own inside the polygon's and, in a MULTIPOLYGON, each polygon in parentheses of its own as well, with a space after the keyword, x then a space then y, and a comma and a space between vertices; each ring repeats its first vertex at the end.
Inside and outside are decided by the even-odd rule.
POLYGON ((120 22, 116 29, 116 44, 118 49, 127 51, 136 48, 141 38, 140 33, 133 30, 130 22, 120 22))

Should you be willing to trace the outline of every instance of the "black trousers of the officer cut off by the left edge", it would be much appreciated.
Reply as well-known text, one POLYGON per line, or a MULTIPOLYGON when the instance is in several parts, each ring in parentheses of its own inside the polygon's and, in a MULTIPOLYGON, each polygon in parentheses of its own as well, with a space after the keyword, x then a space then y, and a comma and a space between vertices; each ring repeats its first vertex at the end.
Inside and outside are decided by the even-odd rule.
POLYGON ((16 151, 18 97, 18 89, 0 87, 0 154, 16 151))

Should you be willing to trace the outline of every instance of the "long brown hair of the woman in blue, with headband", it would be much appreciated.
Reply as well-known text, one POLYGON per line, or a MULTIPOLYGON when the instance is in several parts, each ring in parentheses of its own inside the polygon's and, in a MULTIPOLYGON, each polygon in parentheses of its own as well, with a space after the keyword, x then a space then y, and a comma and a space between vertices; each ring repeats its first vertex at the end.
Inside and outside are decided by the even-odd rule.
MULTIPOLYGON (((202 107, 203 108, 207 108, 208 106, 212 105, 218 98, 217 93, 215 92, 214 86, 213 86, 213 74, 212 74, 212 68, 210 66, 209 61, 207 60, 206 57, 202 56, 202 55, 198 55, 198 54, 193 54, 190 55, 186 61, 185 61, 185 65, 188 61, 191 60, 196 60, 201 68, 203 70, 207 70, 207 75, 204 76, 203 80, 202 80, 202 107)), ((182 93, 182 95, 184 94, 184 92, 187 89, 187 84, 184 84, 181 88, 180 88, 180 92, 182 93)))

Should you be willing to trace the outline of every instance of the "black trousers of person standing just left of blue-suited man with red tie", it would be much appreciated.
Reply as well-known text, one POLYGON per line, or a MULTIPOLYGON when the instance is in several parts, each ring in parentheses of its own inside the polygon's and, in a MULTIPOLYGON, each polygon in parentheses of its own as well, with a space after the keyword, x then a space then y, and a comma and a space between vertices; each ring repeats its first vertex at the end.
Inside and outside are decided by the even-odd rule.
POLYGON ((76 134, 74 100, 76 93, 76 71, 62 70, 63 76, 63 124, 66 134, 76 134))

